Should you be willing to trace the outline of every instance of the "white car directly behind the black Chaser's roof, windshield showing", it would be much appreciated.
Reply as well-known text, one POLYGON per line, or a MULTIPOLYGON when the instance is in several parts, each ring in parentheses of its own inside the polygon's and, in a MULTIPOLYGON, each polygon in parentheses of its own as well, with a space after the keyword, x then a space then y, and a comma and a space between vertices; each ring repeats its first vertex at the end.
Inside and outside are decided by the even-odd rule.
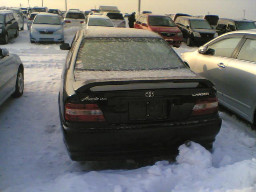
POLYGON ((114 27, 114 24, 107 16, 89 15, 86 18, 86 26, 114 27))

